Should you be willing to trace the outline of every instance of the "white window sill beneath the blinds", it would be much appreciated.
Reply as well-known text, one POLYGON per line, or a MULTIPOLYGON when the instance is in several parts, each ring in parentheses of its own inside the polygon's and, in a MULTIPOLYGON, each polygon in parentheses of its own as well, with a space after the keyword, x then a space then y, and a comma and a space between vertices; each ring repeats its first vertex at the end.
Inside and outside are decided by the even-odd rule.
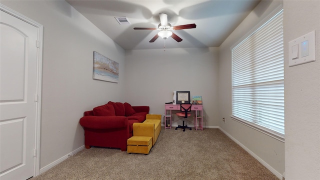
POLYGON ((266 134, 268 136, 271 136, 271 137, 273 137, 273 138, 275 138, 275 139, 277 139, 277 140, 279 140, 281 142, 284 142, 284 135, 283 134, 280 134, 278 132, 272 131, 270 129, 267 129, 267 128, 262 127, 262 126, 260 126, 258 124, 249 122, 247 120, 243 120, 241 118, 235 117, 233 115, 230 115, 230 117, 231 117, 231 119, 233 119, 235 121, 238 121, 238 122, 240 122, 240 123, 242 123, 242 124, 244 124, 246 126, 249 126, 249 127, 253 128, 253 129, 257 130, 257 131, 260 131, 260 132, 262 132, 262 133, 264 133, 264 134, 266 134))

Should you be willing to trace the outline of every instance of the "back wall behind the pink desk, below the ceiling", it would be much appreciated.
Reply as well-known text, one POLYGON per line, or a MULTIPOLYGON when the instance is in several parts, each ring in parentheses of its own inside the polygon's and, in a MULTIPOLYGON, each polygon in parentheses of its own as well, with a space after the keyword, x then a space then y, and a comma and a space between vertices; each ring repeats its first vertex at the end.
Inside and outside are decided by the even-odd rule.
POLYGON ((163 114, 172 91, 190 91, 191 96, 202 96, 204 125, 216 126, 217 62, 217 47, 127 50, 125 99, 132 105, 149 105, 150 113, 163 114))

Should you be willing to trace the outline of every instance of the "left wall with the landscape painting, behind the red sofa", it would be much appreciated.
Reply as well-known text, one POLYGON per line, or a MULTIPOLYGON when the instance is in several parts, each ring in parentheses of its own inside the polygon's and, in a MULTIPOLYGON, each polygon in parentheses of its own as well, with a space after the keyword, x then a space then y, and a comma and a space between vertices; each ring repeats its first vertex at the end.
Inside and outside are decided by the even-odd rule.
POLYGON ((66 1, 1 3, 43 25, 40 168, 83 146, 83 111, 122 101, 124 50, 66 1), (119 63, 119 83, 92 79, 93 51, 119 63))

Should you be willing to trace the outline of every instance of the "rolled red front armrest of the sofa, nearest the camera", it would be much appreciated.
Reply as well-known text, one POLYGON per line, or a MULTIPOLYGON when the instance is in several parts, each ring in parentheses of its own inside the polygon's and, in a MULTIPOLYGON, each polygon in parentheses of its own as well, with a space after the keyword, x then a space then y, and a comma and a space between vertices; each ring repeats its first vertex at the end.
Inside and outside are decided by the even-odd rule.
POLYGON ((80 124, 84 128, 109 129, 128 126, 128 118, 125 116, 93 116, 86 115, 80 118, 80 124))

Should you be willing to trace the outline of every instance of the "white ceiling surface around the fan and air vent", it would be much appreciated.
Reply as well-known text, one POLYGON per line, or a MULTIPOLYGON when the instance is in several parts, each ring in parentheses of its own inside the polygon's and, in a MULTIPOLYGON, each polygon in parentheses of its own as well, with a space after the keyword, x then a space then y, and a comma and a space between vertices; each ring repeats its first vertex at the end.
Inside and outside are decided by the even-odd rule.
POLYGON ((259 3, 260 0, 66 0, 124 49, 217 47, 259 3), (195 23, 196 28, 175 30, 183 40, 171 37, 149 40, 158 30, 159 13, 168 14, 174 25, 195 23), (130 24, 114 17, 126 16, 130 24))

